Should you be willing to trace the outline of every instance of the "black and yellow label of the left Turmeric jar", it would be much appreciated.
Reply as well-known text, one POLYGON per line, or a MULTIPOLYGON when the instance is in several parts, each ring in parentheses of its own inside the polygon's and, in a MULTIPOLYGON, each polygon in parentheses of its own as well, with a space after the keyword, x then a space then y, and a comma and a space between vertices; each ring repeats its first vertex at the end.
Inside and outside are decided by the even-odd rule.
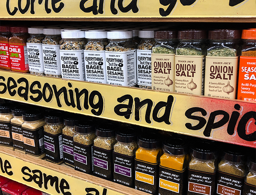
POLYGON ((135 158, 135 189, 156 195, 158 193, 158 163, 148 163, 135 158))

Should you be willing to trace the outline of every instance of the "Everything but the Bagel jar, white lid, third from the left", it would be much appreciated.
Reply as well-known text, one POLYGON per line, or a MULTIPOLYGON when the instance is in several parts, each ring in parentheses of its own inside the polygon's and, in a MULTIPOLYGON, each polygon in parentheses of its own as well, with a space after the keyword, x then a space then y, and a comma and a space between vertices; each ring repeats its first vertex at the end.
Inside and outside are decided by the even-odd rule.
POLYGON ((85 34, 81 30, 61 31, 60 64, 62 78, 85 80, 84 45, 85 34))

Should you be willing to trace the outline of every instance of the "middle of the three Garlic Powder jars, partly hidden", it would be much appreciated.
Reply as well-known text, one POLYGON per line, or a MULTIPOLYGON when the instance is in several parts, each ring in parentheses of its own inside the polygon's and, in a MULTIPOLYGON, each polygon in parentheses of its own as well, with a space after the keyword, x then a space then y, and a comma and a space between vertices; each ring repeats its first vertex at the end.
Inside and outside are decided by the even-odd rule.
POLYGON ((24 143, 23 143, 23 130, 21 125, 24 122, 22 118, 22 113, 27 110, 26 106, 16 106, 12 108, 11 119, 11 132, 12 132, 12 143, 14 145, 14 150, 22 152, 25 154, 24 143))

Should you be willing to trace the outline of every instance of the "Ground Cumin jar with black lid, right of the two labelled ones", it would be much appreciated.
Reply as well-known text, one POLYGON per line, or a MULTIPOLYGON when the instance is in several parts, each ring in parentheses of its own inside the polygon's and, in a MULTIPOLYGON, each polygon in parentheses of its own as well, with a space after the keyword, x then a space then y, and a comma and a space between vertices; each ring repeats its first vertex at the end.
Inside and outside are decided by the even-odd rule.
POLYGON ((235 145, 223 148, 217 171, 217 193, 226 195, 232 190, 233 194, 242 194, 246 174, 244 152, 235 145))

